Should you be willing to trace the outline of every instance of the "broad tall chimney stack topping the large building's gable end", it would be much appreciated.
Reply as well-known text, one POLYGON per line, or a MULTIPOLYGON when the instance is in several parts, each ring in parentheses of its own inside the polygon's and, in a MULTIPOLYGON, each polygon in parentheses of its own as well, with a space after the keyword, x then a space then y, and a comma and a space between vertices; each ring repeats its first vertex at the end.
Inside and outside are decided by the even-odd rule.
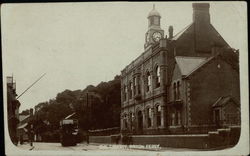
POLYGON ((193 3, 193 22, 210 24, 209 3, 193 3))

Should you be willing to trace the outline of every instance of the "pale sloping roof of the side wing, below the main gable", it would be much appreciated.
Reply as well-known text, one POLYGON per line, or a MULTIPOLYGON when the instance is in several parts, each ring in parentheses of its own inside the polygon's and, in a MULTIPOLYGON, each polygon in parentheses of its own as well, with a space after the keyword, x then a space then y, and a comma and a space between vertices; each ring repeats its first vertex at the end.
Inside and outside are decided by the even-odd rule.
POLYGON ((176 56, 176 63, 180 68, 182 75, 189 75, 202 63, 206 62, 206 57, 187 57, 187 56, 176 56))

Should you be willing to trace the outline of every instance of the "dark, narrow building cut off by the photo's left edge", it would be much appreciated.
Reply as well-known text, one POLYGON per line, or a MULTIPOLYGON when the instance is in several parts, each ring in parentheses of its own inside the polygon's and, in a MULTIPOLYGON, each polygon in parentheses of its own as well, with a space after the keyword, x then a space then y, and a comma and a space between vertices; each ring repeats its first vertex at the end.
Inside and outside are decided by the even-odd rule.
POLYGON ((7 77, 7 116, 10 139, 17 144, 17 125, 19 123, 20 102, 16 99, 16 83, 13 76, 7 77))

